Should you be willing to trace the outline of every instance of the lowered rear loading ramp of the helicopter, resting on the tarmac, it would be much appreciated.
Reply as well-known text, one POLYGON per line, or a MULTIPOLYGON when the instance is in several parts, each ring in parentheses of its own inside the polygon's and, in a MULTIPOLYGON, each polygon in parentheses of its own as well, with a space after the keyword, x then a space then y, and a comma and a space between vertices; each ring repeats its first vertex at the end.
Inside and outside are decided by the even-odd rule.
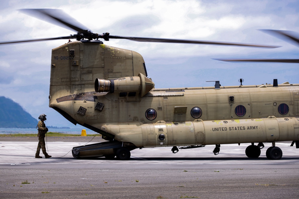
POLYGON ((96 144, 88 144, 84 146, 75 146, 72 149, 74 158, 87 158, 87 157, 115 157, 115 149, 121 148, 122 142, 107 141, 96 144))

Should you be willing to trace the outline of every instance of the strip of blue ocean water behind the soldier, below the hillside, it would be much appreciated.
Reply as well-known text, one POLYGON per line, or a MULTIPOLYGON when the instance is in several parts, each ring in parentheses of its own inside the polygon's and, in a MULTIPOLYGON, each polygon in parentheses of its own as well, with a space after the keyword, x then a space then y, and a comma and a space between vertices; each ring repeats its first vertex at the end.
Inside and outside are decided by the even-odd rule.
MULTIPOLYGON (((96 132, 86 129, 86 134, 90 135, 95 135, 96 132)), ((67 133, 67 134, 80 134, 82 132, 82 129, 51 129, 49 128, 49 132, 58 132, 58 133, 67 133)), ((16 134, 16 133, 21 133, 21 134, 36 134, 37 135, 37 129, 19 129, 19 128, 0 128, 0 134, 16 134)))

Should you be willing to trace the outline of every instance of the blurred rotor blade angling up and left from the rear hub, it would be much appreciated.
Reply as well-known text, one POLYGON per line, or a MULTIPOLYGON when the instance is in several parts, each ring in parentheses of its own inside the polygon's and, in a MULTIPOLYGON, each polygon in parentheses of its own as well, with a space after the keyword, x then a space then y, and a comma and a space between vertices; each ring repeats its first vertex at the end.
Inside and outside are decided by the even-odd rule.
POLYGON ((59 25, 64 28, 68 27, 68 29, 76 30, 80 33, 88 32, 87 27, 85 27, 83 24, 80 24, 74 18, 59 9, 21 9, 21 11, 43 21, 51 22, 52 24, 59 25))

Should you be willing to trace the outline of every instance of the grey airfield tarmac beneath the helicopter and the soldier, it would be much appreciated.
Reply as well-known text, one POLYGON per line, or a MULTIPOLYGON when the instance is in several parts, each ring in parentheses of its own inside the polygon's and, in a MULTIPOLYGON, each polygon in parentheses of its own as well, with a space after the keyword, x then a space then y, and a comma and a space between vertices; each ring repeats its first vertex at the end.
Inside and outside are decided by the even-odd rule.
POLYGON ((246 157, 248 144, 221 145, 219 155, 205 146, 135 149, 128 161, 73 158, 71 149, 91 138, 49 137, 52 158, 38 159, 37 138, 1 137, 0 198, 299 198, 299 149, 291 143, 276 143, 277 161, 266 158, 271 143, 256 159, 246 157))

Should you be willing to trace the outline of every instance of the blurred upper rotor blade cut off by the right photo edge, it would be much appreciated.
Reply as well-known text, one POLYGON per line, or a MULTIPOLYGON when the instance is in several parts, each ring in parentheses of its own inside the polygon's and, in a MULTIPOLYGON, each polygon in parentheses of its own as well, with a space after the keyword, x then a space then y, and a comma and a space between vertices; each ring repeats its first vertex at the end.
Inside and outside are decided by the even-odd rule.
POLYGON ((297 46, 299 45, 298 33, 296 33, 296 32, 289 31, 289 30, 269 30, 269 29, 263 29, 261 31, 268 33, 270 35, 273 35, 282 40, 288 41, 289 43, 291 43, 293 45, 297 45, 297 46), (297 35, 297 36, 295 36, 295 35, 297 35))

